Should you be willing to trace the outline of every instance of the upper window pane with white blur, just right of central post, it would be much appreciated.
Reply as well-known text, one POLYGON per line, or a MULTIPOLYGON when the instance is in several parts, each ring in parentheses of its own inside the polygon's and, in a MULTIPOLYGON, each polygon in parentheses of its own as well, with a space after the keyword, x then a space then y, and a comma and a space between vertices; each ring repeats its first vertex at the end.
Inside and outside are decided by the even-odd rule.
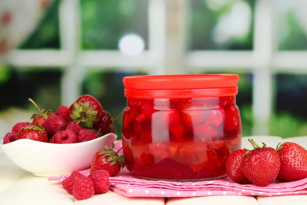
POLYGON ((253 49, 253 10, 254 1, 190 1, 190 49, 253 49))

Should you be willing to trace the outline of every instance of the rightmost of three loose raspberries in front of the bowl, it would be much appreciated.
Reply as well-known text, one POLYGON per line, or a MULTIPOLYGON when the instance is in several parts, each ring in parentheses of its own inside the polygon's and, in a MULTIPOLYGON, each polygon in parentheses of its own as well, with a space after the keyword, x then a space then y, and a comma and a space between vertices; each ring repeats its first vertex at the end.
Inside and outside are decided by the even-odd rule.
POLYGON ((111 188, 109 176, 105 170, 96 170, 89 175, 89 178, 94 181, 95 194, 103 194, 111 188))

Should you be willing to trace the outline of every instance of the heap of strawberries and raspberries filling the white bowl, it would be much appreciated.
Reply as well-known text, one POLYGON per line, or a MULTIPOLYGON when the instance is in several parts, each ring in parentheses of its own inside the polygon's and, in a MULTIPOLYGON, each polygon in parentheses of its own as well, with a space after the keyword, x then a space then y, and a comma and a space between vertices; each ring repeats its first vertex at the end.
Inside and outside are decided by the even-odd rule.
POLYGON ((18 139, 32 139, 54 144, 72 144, 96 139, 115 133, 115 120, 103 110, 99 101, 91 95, 82 95, 70 107, 61 105, 56 112, 38 109, 32 122, 18 122, 3 139, 4 144, 18 139))

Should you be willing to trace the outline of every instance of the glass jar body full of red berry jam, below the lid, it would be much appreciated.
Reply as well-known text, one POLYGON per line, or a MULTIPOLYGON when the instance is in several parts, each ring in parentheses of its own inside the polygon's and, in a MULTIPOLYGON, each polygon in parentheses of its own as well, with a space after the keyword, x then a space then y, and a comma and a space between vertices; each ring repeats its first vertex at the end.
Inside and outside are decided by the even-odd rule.
POLYGON ((226 175, 242 140, 234 96, 128 98, 122 124, 129 171, 147 178, 205 179, 226 175))

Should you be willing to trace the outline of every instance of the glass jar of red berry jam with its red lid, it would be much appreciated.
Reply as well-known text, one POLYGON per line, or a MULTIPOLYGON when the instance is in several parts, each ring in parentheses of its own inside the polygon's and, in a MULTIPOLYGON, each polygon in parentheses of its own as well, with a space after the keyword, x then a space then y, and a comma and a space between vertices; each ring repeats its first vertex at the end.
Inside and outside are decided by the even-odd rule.
POLYGON ((157 180, 226 176, 227 157, 242 146, 238 79, 235 74, 124 77, 127 169, 157 180))

